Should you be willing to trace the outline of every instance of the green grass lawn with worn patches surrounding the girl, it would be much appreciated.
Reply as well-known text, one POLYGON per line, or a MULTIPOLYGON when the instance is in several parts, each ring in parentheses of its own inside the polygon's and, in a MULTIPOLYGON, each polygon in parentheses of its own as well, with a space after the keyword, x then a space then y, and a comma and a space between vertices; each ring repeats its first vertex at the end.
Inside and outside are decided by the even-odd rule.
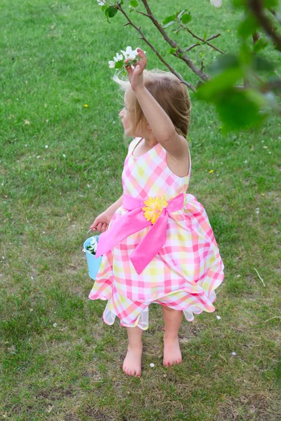
MULTIPOLYGON (((230 1, 189 3, 192 30, 220 32, 214 45, 235 51, 240 12, 230 1)), ((175 10, 171 0, 150 5, 160 21, 175 10)), ((95 0, 2 0, 0 13, 0 420, 281 420, 280 120, 224 136, 214 108, 190 93, 188 192, 207 210, 226 276, 216 312, 183 319, 179 366, 162 366, 162 309, 152 304, 141 379, 126 376, 126 329, 119 319, 107 326, 106 302, 88 299, 82 245, 122 194, 122 98, 107 61, 141 46, 149 69, 164 67, 95 0)), ((130 17, 195 84, 155 28, 130 17)), ((207 59, 218 54, 201 48, 207 59)), ((277 51, 266 54, 280 66, 277 51)))

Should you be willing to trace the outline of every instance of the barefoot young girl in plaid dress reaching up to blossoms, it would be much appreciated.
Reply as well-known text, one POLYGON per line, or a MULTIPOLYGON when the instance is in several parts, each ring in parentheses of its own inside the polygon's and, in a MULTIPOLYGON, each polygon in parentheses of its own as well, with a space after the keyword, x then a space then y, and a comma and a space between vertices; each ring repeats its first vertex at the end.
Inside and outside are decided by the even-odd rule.
POLYGON ((91 226, 101 232, 96 256, 103 259, 89 298, 108 300, 105 323, 118 316, 126 326, 123 371, 140 376, 150 303, 162 305, 164 366, 181 363, 183 314, 192 321, 193 313, 214 312, 224 266, 206 211, 185 193, 191 166, 188 90, 170 72, 145 70, 139 48, 138 56, 134 69, 126 66, 129 81, 115 77, 126 90, 119 116, 133 141, 122 173, 123 194, 91 226))

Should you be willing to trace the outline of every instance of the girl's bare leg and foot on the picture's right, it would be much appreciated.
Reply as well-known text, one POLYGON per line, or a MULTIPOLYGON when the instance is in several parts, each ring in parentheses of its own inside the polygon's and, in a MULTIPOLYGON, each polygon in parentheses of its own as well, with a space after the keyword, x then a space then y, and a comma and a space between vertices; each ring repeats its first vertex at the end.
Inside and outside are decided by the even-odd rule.
POLYGON ((181 363, 181 349, 178 343, 178 330, 183 320, 183 312, 162 305, 164 333, 163 366, 173 366, 181 363))

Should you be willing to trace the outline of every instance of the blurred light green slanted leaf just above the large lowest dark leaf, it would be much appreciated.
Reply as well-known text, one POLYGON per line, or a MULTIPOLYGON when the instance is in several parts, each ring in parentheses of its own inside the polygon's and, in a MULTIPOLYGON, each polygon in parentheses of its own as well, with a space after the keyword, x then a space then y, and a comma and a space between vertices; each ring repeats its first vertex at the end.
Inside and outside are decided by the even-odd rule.
POLYGON ((240 67, 226 69, 223 73, 216 76, 211 81, 205 82, 197 90, 197 98, 209 102, 214 102, 214 99, 223 95, 224 91, 233 87, 235 82, 243 76, 240 67))

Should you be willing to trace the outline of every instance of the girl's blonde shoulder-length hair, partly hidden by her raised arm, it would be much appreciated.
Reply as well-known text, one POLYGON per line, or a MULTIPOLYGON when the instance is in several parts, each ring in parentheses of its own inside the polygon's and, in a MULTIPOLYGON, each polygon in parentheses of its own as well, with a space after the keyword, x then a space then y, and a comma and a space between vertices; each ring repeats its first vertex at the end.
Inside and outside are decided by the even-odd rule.
MULTIPOLYGON (((119 84, 123 91, 131 88, 128 79, 119 79, 115 74, 113 80, 119 84)), ((144 70, 143 81, 145 88, 151 93, 152 97, 157 100, 159 105, 164 109, 170 117, 174 128, 179 135, 184 138, 188 135, 188 126, 190 123, 190 95, 188 87, 182 83, 173 73, 164 72, 159 69, 144 70)), ((139 105, 133 90, 130 89, 129 95, 129 112, 133 120, 134 128, 138 123, 145 123, 146 119, 139 105)))

